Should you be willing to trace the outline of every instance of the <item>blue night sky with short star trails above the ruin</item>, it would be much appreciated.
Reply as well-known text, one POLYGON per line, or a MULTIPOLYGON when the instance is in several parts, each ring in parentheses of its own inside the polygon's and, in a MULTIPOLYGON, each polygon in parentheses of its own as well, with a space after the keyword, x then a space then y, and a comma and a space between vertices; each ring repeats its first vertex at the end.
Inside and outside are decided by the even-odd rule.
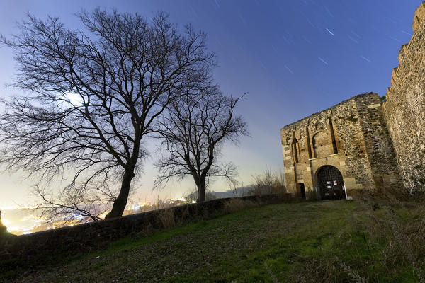
MULTIPOLYGON (((223 161, 239 167, 239 180, 266 168, 283 170, 280 128, 359 93, 385 95, 401 45, 412 36, 417 0, 334 1, 2 1, 0 33, 17 33, 16 21, 26 13, 58 16, 69 28, 81 28, 74 13, 98 6, 140 13, 150 18, 169 13, 171 22, 192 23, 208 34, 208 47, 219 67, 215 79, 233 96, 249 93, 239 113, 249 122, 251 137, 225 146, 223 161)), ((13 54, 0 48, 0 96, 19 94, 6 88, 15 74, 13 54)), ((152 147, 152 146, 151 146, 152 147)), ((137 184, 140 200, 181 197, 193 190, 193 180, 170 183, 152 192, 154 154, 145 161, 137 184)), ((31 180, 23 174, 0 175, 0 207, 31 201, 31 180)), ((212 190, 227 190, 221 181, 212 190)))

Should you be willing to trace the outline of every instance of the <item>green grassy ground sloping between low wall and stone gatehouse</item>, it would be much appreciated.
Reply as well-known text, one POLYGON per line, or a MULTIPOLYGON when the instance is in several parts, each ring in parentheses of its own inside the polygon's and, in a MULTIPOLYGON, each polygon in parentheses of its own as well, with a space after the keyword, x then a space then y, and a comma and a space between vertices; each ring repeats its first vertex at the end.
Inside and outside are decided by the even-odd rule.
POLYGON ((411 204, 370 200, 252 207, 142 238, 123 238, 106 250, 18 270, 23 274, 4 280, 423 282, 424 234, 407 231, 422 221, 419 212, 411 204))

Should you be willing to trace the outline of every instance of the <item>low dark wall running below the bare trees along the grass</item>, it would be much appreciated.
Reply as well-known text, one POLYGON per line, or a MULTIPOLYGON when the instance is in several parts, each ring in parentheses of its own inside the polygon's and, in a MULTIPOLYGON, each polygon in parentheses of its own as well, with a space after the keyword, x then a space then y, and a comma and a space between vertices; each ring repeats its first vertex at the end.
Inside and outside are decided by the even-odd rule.
MULTIPOLYGON (((273 204, 294 200, 295 197, 291 194, 285 194, 238 197, 237 199, 258 204, 273 204)), ((62 258, 64 254, 77 255, 78 253, 106 247, 111 241, 132 233, 137 235, 137 233, 164 229, 164 227, 167 227, 164 222, 166 218, 176 219, 180 223, 211 218, 217 216, 217 214, 222 214, 225 204, 230 200, 233 199, 186 204, 28 235, 3 236, 0 237, 0 272, 11 266, 28 265, 28 262, 34 263, 38 258, 55 260, 55 258, 62 258), (173 214, 174 218, 172 218, 173 214)))

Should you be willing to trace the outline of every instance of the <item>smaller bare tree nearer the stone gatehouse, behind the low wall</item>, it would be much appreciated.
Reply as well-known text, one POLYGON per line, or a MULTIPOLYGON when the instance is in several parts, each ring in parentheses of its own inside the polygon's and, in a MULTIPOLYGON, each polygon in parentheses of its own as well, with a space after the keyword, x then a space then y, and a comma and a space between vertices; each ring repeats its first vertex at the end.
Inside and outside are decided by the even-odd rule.
POLYGON ((234 180, 232 163, 217 162, 225 141, 237 142, 248 134, 242 116, 234 114, 239 98, 223 96, 217 86, 191 85, 185 96, 169 105, 169 115, 160 120, 162 158, 157 162, 157 186, 170 178, 191 175, 198 188, 198 202, 205 201, 205 187, 211 177, 234 180))

